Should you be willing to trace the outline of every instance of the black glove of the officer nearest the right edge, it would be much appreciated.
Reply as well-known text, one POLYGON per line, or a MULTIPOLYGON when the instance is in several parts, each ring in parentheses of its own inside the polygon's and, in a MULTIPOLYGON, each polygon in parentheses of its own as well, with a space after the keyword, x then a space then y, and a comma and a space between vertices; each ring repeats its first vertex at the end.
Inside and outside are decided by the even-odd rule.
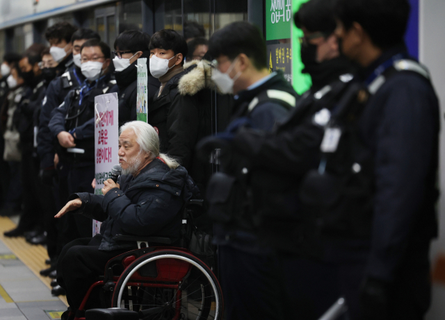
POLYGON ((384 281, 366 278, 360 290, 362 319, 388 319, 389 285, 384 281))

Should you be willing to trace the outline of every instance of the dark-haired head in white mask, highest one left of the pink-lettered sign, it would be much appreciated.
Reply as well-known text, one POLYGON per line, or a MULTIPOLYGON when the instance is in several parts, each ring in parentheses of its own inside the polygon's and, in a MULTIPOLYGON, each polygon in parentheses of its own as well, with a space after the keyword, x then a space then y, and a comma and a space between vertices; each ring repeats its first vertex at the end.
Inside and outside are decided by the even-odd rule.
POLYGON ((51 55, 56 62, 62 61, 72 52, 71 37, 77 28, 68 22, 58 22, 44 33, 51 47, 51 55))

